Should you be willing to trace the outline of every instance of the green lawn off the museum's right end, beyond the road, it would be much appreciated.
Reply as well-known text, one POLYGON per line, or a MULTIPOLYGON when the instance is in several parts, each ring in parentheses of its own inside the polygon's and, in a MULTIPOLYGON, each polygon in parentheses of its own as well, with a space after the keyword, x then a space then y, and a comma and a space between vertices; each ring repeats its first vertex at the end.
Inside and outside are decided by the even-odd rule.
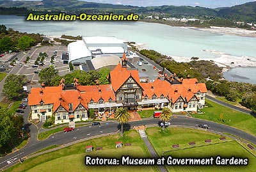
POLYGON ((241 113, 239 111, 232 110, 228 107, 221 106, 220 104, 216 104, 211 102, 210 100, 206 100, 212 107, 204 107, 204 109, 200 109, 205 114, 192 114, 195 118, 200 118, 209 121, 215 121, 218 123, 223 123, 225 125, 230 125, 232 127, 236 127, 237 129, 244 130, 255 136, 256 134, 256 118, 245 113, 241 113), (220 121, 220 114, 223 113, 223 121, 220 121))

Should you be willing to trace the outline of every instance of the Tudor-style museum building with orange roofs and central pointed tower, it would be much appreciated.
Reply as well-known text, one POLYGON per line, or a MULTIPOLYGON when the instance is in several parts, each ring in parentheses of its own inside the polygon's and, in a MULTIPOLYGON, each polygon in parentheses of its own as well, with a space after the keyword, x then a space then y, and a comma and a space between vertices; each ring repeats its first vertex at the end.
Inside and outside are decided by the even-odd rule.
POLYGON ((196 111, 205 104, 207 89, 197 79, 178 79, 175 75, 164 74, 164 79, 154 82, 140 82, 138 70, 127 69, 127 58, 122 58, 109 74, 108 85, 81 86, 77 79, 74 84, 31 88, 28 103, 32 119, 45 120, 54 116, 54 123, 88 120, 88 109, 97 114, 109 115, 116 108, 127 110, 168 107, 172 112, 196 111))

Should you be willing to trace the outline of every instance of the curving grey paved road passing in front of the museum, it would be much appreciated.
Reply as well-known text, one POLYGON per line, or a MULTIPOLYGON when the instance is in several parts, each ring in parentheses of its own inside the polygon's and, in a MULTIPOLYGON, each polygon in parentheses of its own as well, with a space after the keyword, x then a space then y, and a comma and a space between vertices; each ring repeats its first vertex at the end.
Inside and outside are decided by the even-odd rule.
MULTIPOLYGON (((134 126, 157 124, 158 121, 159 121, 158 119, 133 121, 131 123, 127 123, 124 127, 125 129, 132 129, 132 127, 134 126)), ((204 121, 204 120, 199 120, 195 118, 186 118, 186 117, 177 117, 177 118, 173 118, 172 120, 172 125, 177 125, 177 126, 196 127, 200 123, 207 123, 211 127, 210 130, 214 130, 216 132, 227 132, 256 144, 255 136, 247 134, 246 132, 243 132, 241 130, 228 127, 227 125, 221 125, 219 123, 214 123, 211 121, 204 121)), ((26 155, 29 155, 30 153, 41 150, 42 148, 45 148, 47 146, 63 145, 63 144, 67 144, 74 141, 75 140, 74 138, 78 140, 86 137, 97 136, 99 134, 106 134, 106 133, 117 132, 117 131, 118 131, 118 123, 114 121, 108 121, 106 123, 102 123, 100 127, 99 126, 89 127, 87 125, 84 127, 77 128, 76 130, 74 130, 74 132, 68 132, 66 134, 64 134, 63 132, 59 132, 44 141, 35 141, 33 144, 28 144, 25 148, 22 148, 17 152, 14 152, 10 155, 6 155, 5 157, 2 157, 0 159, 0 168, 3 168, 4 166, 8 165, 6 162, 6 160, 8 159, 13 159, 16 157, 20 159, 22 157, 25 157, 26 155)))

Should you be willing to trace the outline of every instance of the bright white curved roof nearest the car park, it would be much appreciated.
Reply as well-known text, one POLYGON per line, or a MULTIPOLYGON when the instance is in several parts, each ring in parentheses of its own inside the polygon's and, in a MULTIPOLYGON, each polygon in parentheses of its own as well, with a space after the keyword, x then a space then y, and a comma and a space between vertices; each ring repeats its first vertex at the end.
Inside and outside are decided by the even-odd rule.
POLYGON ((72 42, 68 44, 68 58, 69 61, 75 59, 86 58, 92 56, 91 51, 86 47, 83 40, 72 42))

